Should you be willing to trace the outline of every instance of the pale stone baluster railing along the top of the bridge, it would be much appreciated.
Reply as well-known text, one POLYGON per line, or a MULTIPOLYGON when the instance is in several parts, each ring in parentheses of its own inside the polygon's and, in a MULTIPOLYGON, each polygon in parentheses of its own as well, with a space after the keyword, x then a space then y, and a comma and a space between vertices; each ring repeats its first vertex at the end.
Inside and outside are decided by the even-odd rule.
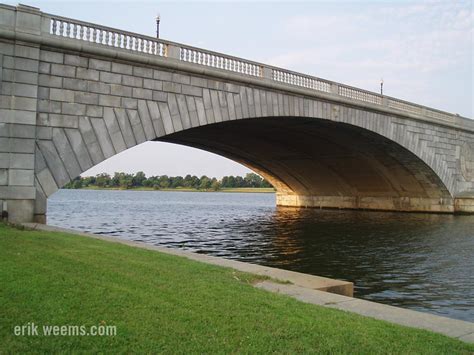
POLYGON ((46 27, 45 34, 51 36, 115 47, 117 49, 138 52, 143 55, 159 56, 165 59, 172 58, 193 65, 230 71, 245 76, 261 78, 262 80, 271 80, 288 86, 296 86, 359 102, 385 106, 436 120, 452 122, 457 116, 314 76, 115 28, 50 14, 43 14, 43 23, 43 26, 46 27))

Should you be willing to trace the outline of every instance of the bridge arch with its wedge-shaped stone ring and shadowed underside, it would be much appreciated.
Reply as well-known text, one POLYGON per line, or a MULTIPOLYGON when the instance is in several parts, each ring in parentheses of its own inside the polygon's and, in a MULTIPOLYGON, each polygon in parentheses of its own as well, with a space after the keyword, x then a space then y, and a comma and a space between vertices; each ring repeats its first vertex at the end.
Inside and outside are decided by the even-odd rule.
POLYGON ((212 99, 212 108, 206 109, 204 100, 200 107, 199 98, 168 94, 166 103, 138 100, 136 109, 105 107, 103 118, 79 117, 77 130, 53 128, 51 141, 37 142, 38 193, 46 200, 80 173, 125 149, 145 141, 164 141, 246 165, 276 187, 279 205, 452 209, 452 182, 442 180, 446 167, 430 166, 429 162, 436 161, 431 152, 411 144, 410 133, 390 122, 396 117, 286 94, 281 95, 284 102, 304 107, 308 101, 313 114, 305 115, 303 109, 280 115, 277 93, 256 88, 227 94, 209 90, 209 97, 214 93, 217 108, 212 107, 212 99), (255 99, 256 95, 260 102, 276 95, 277 102, 256 107, 254 101, 252 108, 241 108, 242 115, 237 116, 235 99, 255 99))

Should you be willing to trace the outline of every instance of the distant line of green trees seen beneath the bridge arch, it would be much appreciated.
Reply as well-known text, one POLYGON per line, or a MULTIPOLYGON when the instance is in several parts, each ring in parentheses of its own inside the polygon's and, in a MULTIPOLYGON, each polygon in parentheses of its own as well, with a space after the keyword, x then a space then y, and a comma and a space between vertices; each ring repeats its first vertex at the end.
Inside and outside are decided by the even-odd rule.
POLYGON ((78 176, 69 182, 65 189, 81 189, 86 187, 98 188, 121 188, 132 189, 139 187, 148 187, 155 190, 190 188, 196 190, 218 191, 222 188, 236 187, 272 187, 272 185, 262 177, 254 173, 248 173, 242 176, 224 176, 221 180, 209 178, 205 175, 200 178, 195 175, 182 176, 150 176, 146 177, 143 171, 136 174, 115 173, 113 176, 102 173, 96 176, 81 177, 78 176))

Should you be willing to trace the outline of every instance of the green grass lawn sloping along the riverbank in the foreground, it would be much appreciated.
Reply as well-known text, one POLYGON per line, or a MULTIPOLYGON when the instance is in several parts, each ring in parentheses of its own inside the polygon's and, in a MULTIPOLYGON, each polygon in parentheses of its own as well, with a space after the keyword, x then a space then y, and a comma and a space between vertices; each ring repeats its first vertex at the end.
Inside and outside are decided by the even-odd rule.
POLYGON ((474 346, 256 289, 257 276, 0 224, 0 353, 472 353, 474 346), (113 337, 14 327, 115 325, 113 337))

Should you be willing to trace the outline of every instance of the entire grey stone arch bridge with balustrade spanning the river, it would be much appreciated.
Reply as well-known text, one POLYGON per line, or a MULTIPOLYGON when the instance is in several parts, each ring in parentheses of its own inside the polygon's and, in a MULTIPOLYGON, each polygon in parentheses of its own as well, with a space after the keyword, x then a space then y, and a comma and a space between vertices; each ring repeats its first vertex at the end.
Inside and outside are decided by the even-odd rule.
POLYGON ((0 209, 145 141, 238 161, 277 204, 474 211, 474 121, 249 60, 0 5, 0 209))

